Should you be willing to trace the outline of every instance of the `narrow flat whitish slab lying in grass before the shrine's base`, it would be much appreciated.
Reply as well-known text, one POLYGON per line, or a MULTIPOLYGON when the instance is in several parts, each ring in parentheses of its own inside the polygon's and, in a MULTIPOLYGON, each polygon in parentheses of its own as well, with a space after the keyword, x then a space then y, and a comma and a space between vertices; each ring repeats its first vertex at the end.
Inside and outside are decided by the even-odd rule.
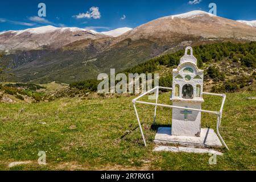
POLYGON ((216 154, 223 155, 221 152, 208 149, 208 148, 193 148, 193 147, 174 147, 174 146, 157 146, 153 150, 154 152, 188 152, 188 153, 199 153, 199 154, 216 154))

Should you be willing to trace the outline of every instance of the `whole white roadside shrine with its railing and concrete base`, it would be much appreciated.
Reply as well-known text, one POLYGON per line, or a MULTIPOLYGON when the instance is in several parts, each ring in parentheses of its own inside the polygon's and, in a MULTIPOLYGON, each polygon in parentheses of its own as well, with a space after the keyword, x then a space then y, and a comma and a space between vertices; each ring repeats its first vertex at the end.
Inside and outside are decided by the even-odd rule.
MULTIPOLYGON (((197 67, 197 59, 193 56, 193 49, 191 47, 185 48, 185 54, 181 57, 179 65, 172 71, 172 74, 172 88, 156 86, 154 89, 148 90, 146 93, 141 94, 133 100, 133 106, 144 145, 146 146, 146 139, 144 138, 141 121, 136 109, 137 103, 155 106, 154 125, 155 120, 160 122, 156 117, 158 107, 168 107, 172 109, 171 127, 158 127, 154 140, 156 144, 172 143, 179 144, 180 146, 196 147, 200 152, 201 148, 222 147, 222 144, 228 149, 228 146, 219 132, 226 95, 203 92, 204 71, 197 67), (190 51, 190 53, 188 53, 188 51, 190 51), (160 89, 172 90, 172 105, 159 104, 160 89), (155 103, 139 101, 140 98, 154 91, 156 91, 155 103), (220 110, 203 110, 201 108, 201 104, 204 102, 203 94, 222 97, 220 110), (201 113, 217 115, 216 131, 209 128, 201 128, 201 113)), ((171 148, 168 146, 166 146, 166 148, 161 147, 160 150, 171 148)), ((155 151, 159 151, 158 149, 159 148, 156 148, 155 151)), ((181 148, 173 147, 172 150, 181 151, 181 148)), ((184 149, 184 147, 182 150, 185 152, 191 150, 196 151, 194 148, 184 149)), ((208 151, 209 149, 205 149, 204 152, 208 151)))

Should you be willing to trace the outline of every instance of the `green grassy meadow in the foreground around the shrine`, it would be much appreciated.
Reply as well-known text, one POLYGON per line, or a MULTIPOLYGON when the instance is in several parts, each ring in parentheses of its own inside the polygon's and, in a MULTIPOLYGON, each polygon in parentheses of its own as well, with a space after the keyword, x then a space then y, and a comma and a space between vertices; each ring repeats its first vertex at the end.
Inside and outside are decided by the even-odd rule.
MULTIPOLYGON (((38 104, 0 104, 1 170, 255 170, 256 92, 227 94, 220 133, 230 151, 222 149, 217 165, 208 154, 152 152, 154 106, 138 104, 147 147, 143 146, 131 101, 135 97, 64 98, 38 104), (130 134, 122 137, 125 131, 130 134), (47 165, 38 164, 46 151, 47 165), (9 168, 11 162, 30 164, 9 168)), ((170 93, 160 95, 162 104, 170 93)), ((221 98, 205 96, 203 109, 220 110, 221 98)), ((203 113, 202 127, 216 128, 216 116, 203 113)), ((171 125, 171 109, 158 109, 157 125, 171 125)))

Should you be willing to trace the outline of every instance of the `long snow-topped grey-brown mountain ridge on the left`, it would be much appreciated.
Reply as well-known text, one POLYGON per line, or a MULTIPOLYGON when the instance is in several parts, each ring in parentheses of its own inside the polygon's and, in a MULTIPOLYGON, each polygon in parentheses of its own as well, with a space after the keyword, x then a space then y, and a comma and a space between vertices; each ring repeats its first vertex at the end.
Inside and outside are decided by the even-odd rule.
POLYGON ((0 33, 0 51, 57 49, 81 39, 100 39, 107 35, 82 28, 44 26, 0 33))

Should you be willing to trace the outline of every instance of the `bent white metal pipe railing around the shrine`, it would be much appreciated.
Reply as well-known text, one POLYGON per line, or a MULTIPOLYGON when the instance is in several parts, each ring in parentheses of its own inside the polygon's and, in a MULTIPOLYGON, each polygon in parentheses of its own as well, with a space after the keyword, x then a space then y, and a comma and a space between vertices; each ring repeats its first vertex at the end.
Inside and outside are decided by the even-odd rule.
POLYGON ((137 111, 136 106, 135 106, 136 103, 139 103, 139 104, 147 104, 147 105, 154 105, 154 106, 155 106, 154 124, 155 124, 155 119, 156 119, 156 109, 157 109, 158 106, 170 107, 170 108, 177 108, 177 109, 187 109, 187 110, 200 111, 200 112, 203 112, 203 113, 209 113, 209 114, 215 114, 215 115, 217 115, 216 131, 217 131, 218 138, 220 138, 221 143, 224 144, 224 146, 229 150, 228 146, 227 146, 226 143, 224 142, 224 140, 223 140, 223 138, 221 137, 220 132, 219 132, 219 127, 220 127, 220 125, 221 125, 221 118, 222 118, 222 110, 223 110, 223 107, 224 107, 224 104, 225 104, 225 100, 226 100, 226 95, 225 95, 225 94, 217 94, 217 93, 203 92, 203 94, 222 97, 222 103, 221 103, 221 109, 220 109, 220 111, 210 111, 210 110, 193 109, 193 108, 187 108, 187 107, 179 107, 179 106, 173 106, 173 105, 158 104, 159 89, 172 90, 172 88, 167 88, 167 87, 163 87, 163 86, 156 86, 154 89, 148 90, 147 92, 141 94, 139 97, 137 97, 137 98, 135 98, 135 99, 133 100, 133 107, 134 107, 134 110, 135 110, 136 117, 137 117, 137 119, 138 119, 139 129, 141 130, 142 139, 143 139, 143 142, 144 142, 144 145, 145 145, 145 146, 147 146, 147 144, 146 144, 146 140, 145 140, 145 138, 144 138, 143 130, 142 130, 142 127, 141 127, 141 121, 139 120, 138 111, 137 111), (151 92, 153 92, 153 91, 155 91, 155 90, 156 90, 156 102, 155 102, 155 103, 138 101, 139 98, 142 98, 143 96, 146 96, 147 94, 149 94, 149 93, 151 93, 151 92))

